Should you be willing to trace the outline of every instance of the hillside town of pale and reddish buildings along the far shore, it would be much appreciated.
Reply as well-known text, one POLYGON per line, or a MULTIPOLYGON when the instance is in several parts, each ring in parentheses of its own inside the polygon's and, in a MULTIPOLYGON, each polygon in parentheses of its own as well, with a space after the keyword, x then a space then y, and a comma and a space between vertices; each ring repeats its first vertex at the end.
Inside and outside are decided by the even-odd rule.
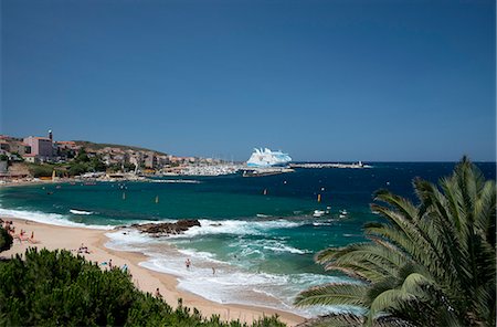
POLYGON ((237 170, 219 159, 178 157, 133 146, 0 135, 0 178, 224 175, 237 170))

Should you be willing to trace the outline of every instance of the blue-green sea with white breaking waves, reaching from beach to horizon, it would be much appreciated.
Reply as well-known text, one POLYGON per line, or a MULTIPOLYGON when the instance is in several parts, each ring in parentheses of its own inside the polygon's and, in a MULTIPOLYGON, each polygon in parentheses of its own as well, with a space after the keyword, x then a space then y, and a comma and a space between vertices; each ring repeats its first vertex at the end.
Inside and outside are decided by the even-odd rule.
MULTIPOLYGON (((367 169, 302 168, 265 177, 7 187, 0 189, 0 217, 107 230, 107 247, 146 254, 140 265, 177 276, 182 291, 216 303, 311 317, 347 308, 296 308, 299 292, 326 283, 358 283, 325 271, 315 263, 316 253, 367 241, 362 225, 382 219, 370 210, 376 190, 388 189, 415 202, 415 177, 437 182, 455 164, 369 162, 367 169), (314 217, 315 210, 325 213, 314 217), (201 226, 160 238, 131 228, 115 230, 179 219, 197 219, 201 226), (187 259, 192 263, 188 270, 187 259)), ((477 166, 495 180, 495 162, 477 166)))

